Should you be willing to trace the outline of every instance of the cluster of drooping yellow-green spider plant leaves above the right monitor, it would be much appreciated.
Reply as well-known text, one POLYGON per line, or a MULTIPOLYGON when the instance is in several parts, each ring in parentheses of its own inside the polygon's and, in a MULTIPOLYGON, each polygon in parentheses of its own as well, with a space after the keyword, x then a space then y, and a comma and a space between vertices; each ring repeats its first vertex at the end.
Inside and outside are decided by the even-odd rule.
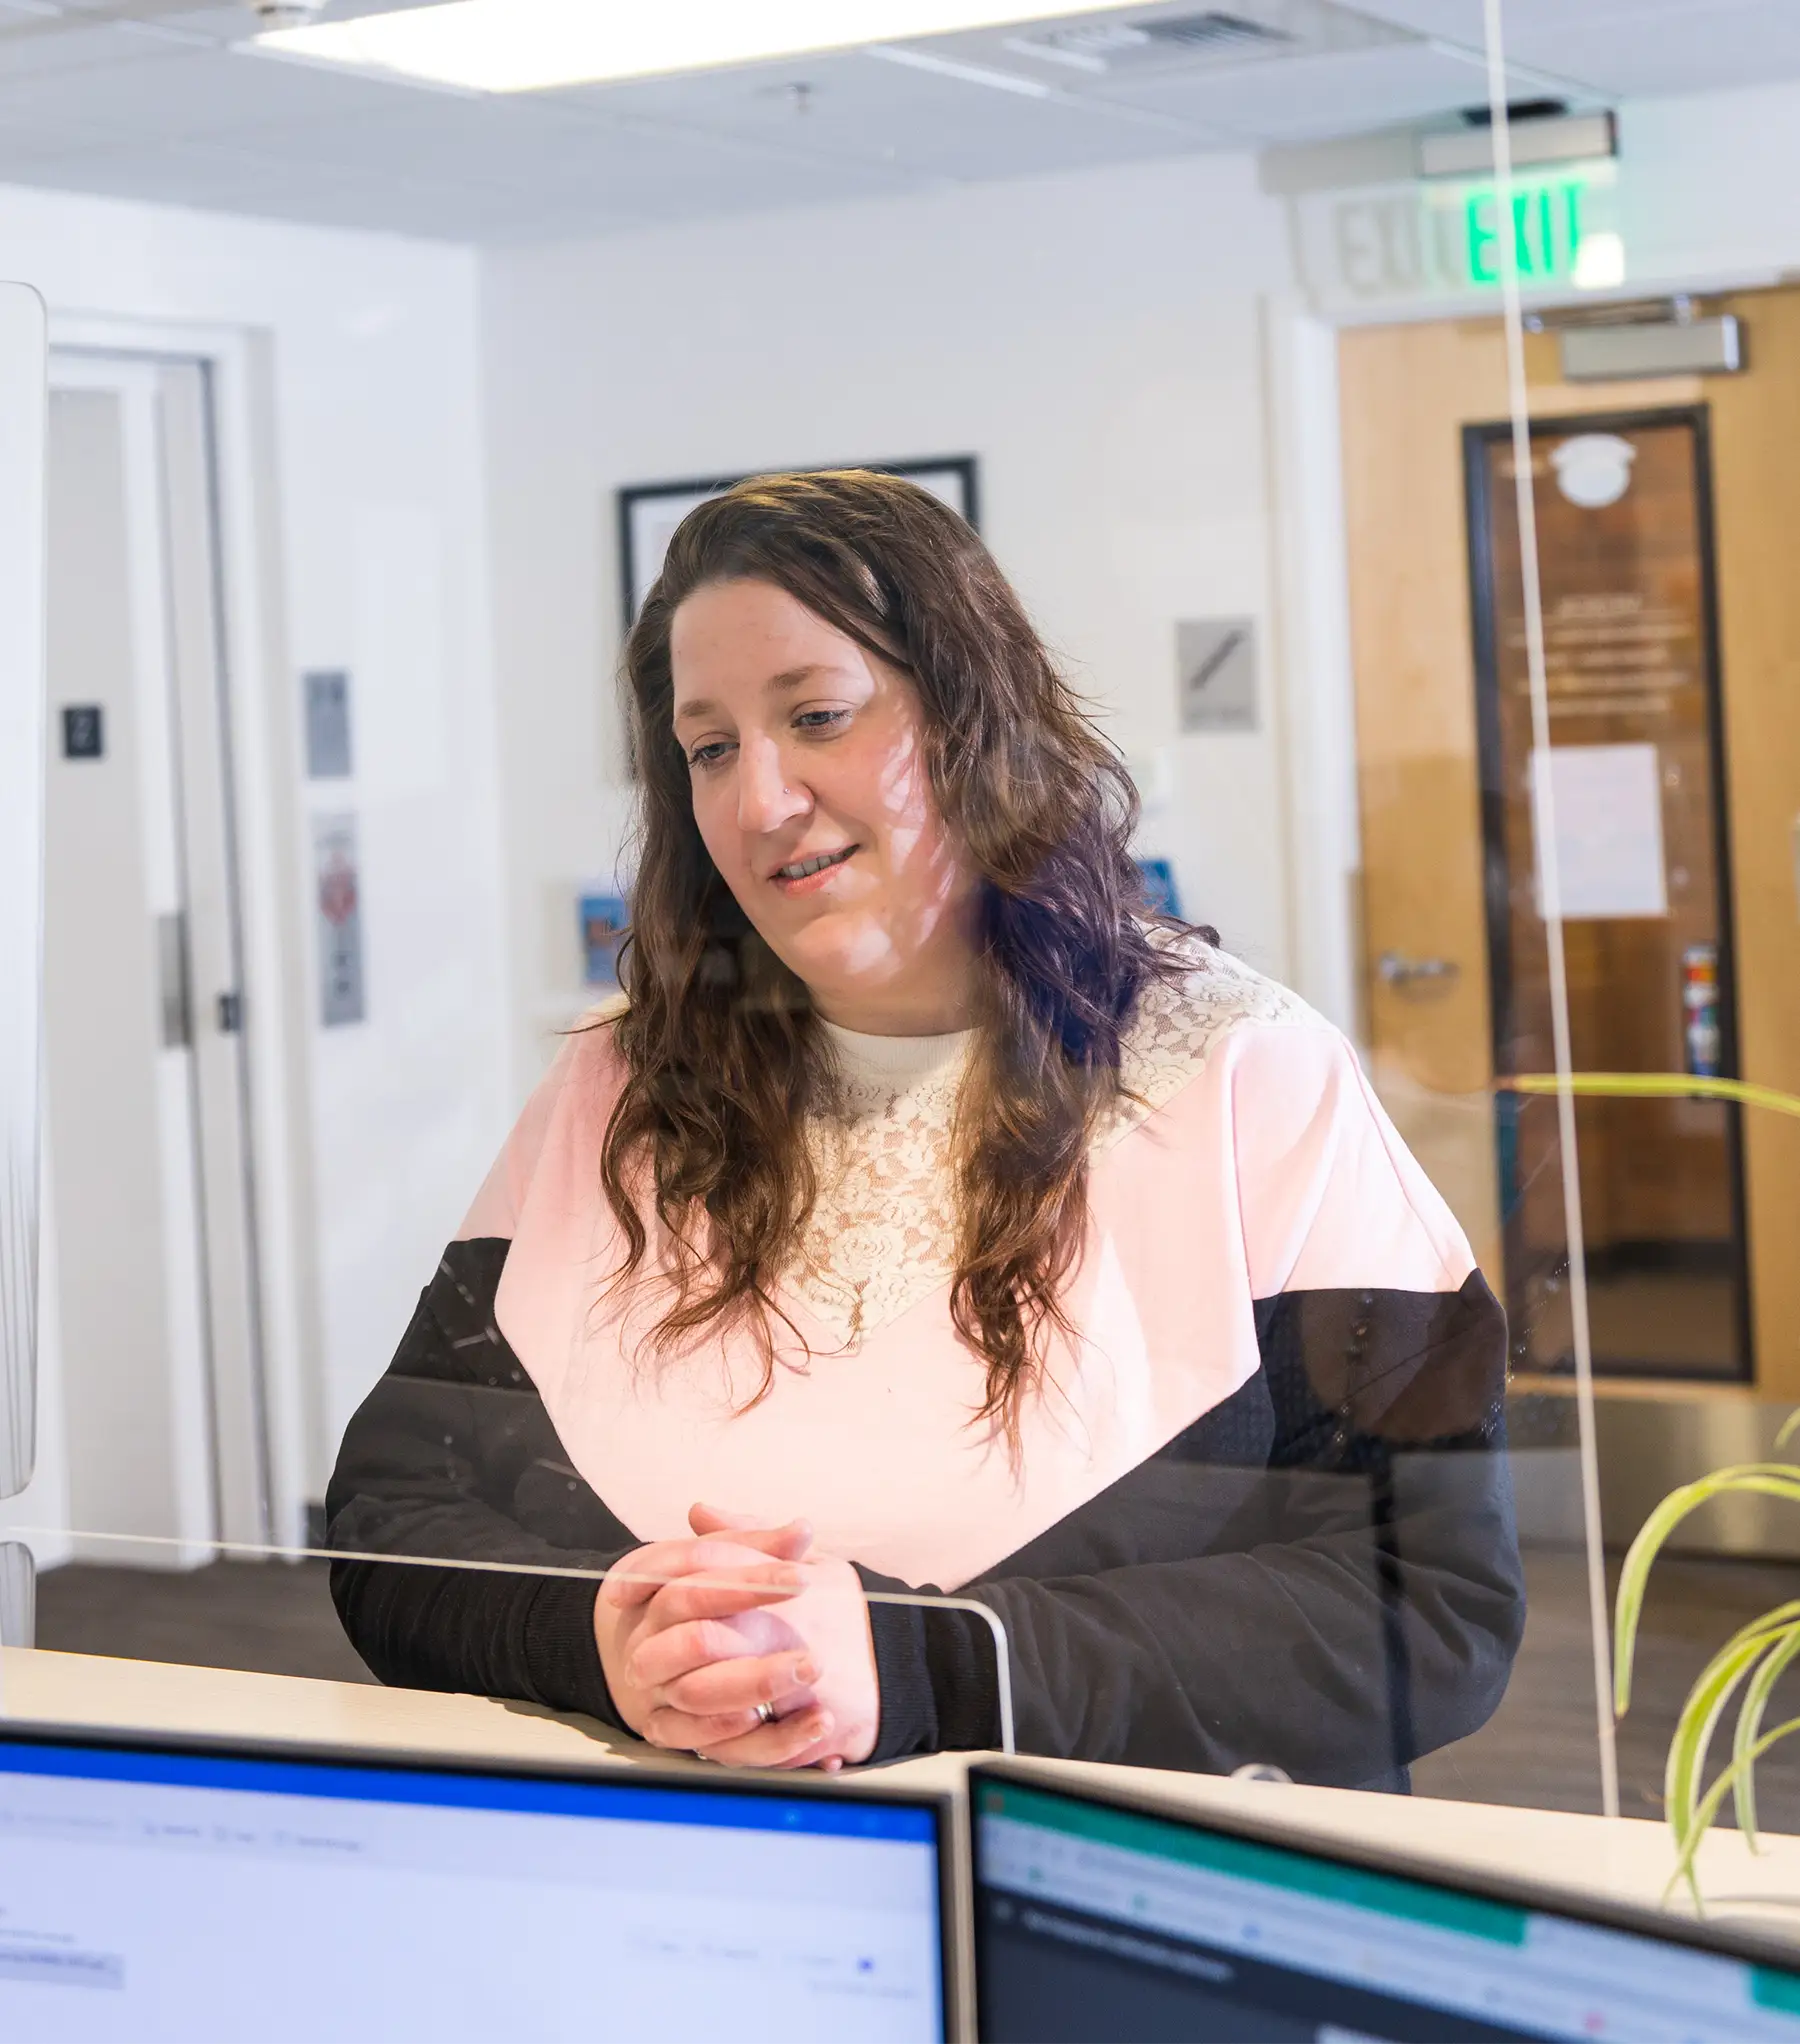
MULTIPOLYGON (((1800 1412, 1790 1414, 1788 1423, 1775 1435, 1778 1453, 1788 1445, 1796 1427, 1800 1427, 1800 1412)), ((1616 1717, 1624 1717, 1630 1707, 1630 1666, 1651 1564, 1690 1513, 1698 1511, 1710 1498, 1743 1494, 1800 1502, 1800 1464, 1745 1461, 1728 1470, 1714 1470, 1692 1484, 1681 1484, 1679 1490, 1671 1490, 1663 1498, 1630 1543, 1618 1578, 1612 1627, 1612 1709, 1616 1717)), ((1741 1625, 1724 1641, 1700 1672, 1694 1688, 1688 1690, 1688 1701, 1681 1705, 1681 1717, 1673 1739, 1669 1739, 1669 1760, 1663 1772, 1665 1815, 1675 1840, 1675 1872, 1669 1876, 1667 1893, 1671 1895, 1686 1883, 1696 1911, 1704 1909, 1704 1901, 1694 1862, 1700 1842, 1706 1838, 1726 1797, 1737 1807, 1737 1825, 1743 1831, 1745 1844, 1751 1852, 1757 1850, 1757 1762, 1771 1746, 1800 1731, 1800 1717, 1790 1717, 1784 1725, 1775 1725, 1773 1731, 1763 1731, 1763 1719, 1775 1682, 1796 1656, 1800 1656, 1800 1602, 1775 1605, 1773 1611, 1765 1611, 1759 1619, 1751 1619, 1749 1625, 1741 1625), (1718 1778, 1710 1786, 1702 1786, 1714 1733, 1739 1690, 1743 1690, 1743 1701, 1737 1707, 1731 1762, 1720 1768, 1718 1778)))

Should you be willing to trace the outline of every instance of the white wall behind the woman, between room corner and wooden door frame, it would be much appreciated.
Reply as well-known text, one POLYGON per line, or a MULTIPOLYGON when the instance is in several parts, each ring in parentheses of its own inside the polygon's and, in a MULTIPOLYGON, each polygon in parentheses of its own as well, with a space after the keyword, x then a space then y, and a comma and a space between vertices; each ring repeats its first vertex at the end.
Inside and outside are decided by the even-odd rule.
POLYGON ((576 1002, 574 885, 623 811, 613 493, 975 454, 983 527, 1128 750, 1183 905, 1289 963, 1277 746, 1175 738, 1177 617, 1271 615, 1248 157, 1199 157, 494 253, 482 266, 515 1079, 576 1002))

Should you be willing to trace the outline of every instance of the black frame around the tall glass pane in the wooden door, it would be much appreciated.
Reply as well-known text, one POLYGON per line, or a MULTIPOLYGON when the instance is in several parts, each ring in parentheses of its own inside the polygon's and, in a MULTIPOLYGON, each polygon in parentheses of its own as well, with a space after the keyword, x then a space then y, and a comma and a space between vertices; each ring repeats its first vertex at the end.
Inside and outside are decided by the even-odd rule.
MULTIPOLYGON (((1720 1073, 1739 1077, 1737 1040, 1737 887, 1731 865, 1731 807, 1724 754, 1724 658, 1718 636, 1718 556, 1714 546, 1712 501, 1712 431, 1706 405, 1659 405, 1628 411, 1594 411, 1545 415, 1530 421, 1530 435, 1565 437, 1569 433, 1626 433, 1635 427, 1686 425, 1694 433, 1694 513, 1700 540, 1700 609, 1706 650, 1706 736, 1712 756, 1712 830, 1714 877, 1718 887, 1718 1030, 1720 1073)), ((1496 644, 1500 593, 1494 574, 1494 503, 1489 495, 1487 450, 1512 439, 1510 421, 1489 421, 1463 427, 1463 499, 1469 533, 1469 623, 1475 650, 1475 750, 1481 793, 1481 891, 1487 924, 1487 983, 1494 1071, 1510 1069, 1512 1040, 1512 903, 1506 856, 1506 783, 1500 732, 1500 650, 1496 644)), ((1510 1183, 1516 1122, 1524 1106, 1518 1094, 1496 1091, 1496 1157, 1500 1159, 1500 1226, 1506 1265, 1506 1310, 1522 1325, 1522 1300, 1512 1296, 1514 1271, 1522 1261, 1516 1239, 1516 1188, 1510 1183)), ((1749 1202, 1745 1196, 1743 1110, 1737 1102, 1720 1102, 1724 1110, 1726 1173, 1731 1188, 1733 1292, 1737 1367, 1728 1372, 1688 1369, 1663 1372, 1655 1378, 1677 1384, 1753 1384, 1755 1382, 1755 1314, 1751 1306, 1749 1267, 1749 1202)), ((1643 1376, 1628 1363, 1594 1359, 1596 1376, 1643 1376)))

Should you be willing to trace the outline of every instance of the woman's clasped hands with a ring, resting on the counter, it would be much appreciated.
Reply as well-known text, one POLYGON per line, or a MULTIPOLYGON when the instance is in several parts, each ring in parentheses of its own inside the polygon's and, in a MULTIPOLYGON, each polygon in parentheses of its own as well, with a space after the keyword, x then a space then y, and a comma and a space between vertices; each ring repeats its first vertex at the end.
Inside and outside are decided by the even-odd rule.
POLYGON ((695 1504, 693 1539, 619 1562, 595 1637, 625 1725, 748 1768, 836 1772, 874 1752, 881 1690, 862 1582, 803 1519, 758 1527, 695 1504))

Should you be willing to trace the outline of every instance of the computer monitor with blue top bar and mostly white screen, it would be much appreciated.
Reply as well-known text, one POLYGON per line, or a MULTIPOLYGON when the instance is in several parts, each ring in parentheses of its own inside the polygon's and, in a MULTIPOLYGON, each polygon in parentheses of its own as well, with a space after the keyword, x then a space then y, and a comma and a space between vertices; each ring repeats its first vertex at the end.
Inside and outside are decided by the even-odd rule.
POLYGON ((0 2038, 944 2044, 948 1805, 0 1733, 0 2038))

